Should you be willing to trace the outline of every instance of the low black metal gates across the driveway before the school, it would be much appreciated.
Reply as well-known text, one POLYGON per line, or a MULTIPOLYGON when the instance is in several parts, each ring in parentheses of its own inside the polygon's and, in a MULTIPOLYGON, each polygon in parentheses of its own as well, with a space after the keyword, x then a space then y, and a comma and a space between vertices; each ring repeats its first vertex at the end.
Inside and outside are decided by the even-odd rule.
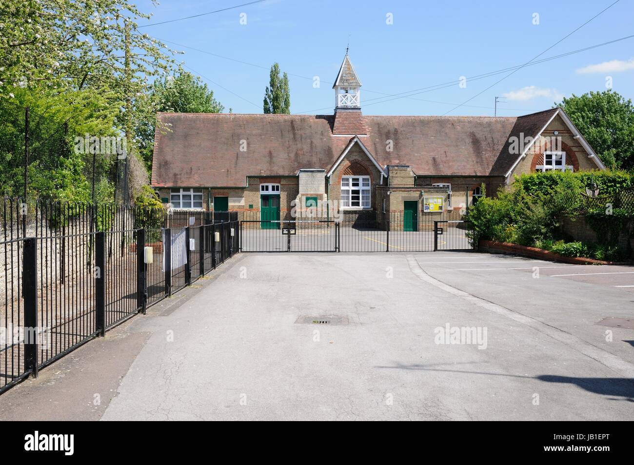
MULTIPOLYGON (((242 252, 419 252, 468 250, 469 223, 444 212, 411 218, 402 212, 364 212, 341 218, 271 219, 245 212, 240 220, 242 252)), ((275 217, 275 215, 273 215, 275 217)))

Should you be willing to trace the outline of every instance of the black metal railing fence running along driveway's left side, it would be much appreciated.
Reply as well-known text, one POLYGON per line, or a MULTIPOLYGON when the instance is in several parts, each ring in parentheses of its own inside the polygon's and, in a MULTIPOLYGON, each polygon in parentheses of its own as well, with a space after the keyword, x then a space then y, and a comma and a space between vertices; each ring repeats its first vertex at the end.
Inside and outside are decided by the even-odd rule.
POLYGON ((0 393, 238 252, 235 212, 23 204, 1 217, 0 393))

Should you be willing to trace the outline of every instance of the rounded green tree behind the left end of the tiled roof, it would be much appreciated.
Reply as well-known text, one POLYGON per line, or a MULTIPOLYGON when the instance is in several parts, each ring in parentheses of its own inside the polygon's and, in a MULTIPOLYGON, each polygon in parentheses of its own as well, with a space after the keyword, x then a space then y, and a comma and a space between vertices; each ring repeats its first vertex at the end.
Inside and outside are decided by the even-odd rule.
MULTIPOLYGON (((222 113, 224 106, 214 98, 214 91, 200 77, 179 70, 154 82, 146 98, 143 119, 136 119, 136 145, 148 167, 152 167, 157 112, 222 113)), ((169 131, 169 128, 162 128, 169 131)))

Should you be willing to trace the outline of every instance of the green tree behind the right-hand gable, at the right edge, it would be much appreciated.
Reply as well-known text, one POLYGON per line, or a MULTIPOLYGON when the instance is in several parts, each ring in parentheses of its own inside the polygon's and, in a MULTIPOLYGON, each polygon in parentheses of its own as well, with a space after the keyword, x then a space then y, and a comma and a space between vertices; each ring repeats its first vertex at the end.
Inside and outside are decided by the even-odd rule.
POLYGON ((564 108, 605 166, 634 169, 634 107, 614 91, 564 98, 564 108))

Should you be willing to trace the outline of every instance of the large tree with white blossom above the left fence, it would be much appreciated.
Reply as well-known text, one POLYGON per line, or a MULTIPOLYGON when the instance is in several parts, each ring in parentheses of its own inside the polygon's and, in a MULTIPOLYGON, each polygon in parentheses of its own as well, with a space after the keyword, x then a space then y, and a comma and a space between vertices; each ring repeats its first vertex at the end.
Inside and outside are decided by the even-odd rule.
MULTIPOLYGON (((97 137, 124 134, 128 154, 136 153, 133 129, 142 127, 156 111, 150 98, 151 78, 160 79, 174 69, 172 51, 137 29, 137 21, 149 17, 128 0, 3 0, 0 103, 4 108, 0 110, 11 115, 15 109, 21 115, 23 104, 28 104, 34 115, 49 121, 31 124, 32 141, 46 140, 47 134, 63 125, 71 141, 86 133, 97 137), (82 110, 85 105, 88 115, 82 110)), ((11 137, 13 145, 5 144, 2 156, 17 162, 23 147, 18 137, 20 122, 18 117, 13 120, 4 119, 3 136, 11 137)), ((80 195, 77 187, 83 192, 83 183, 72 176, 86 173, 92 157, 73 154, 71 163, 57 156, 58 150, 40 152, 41 160, 30 157, 34 169, 39 166, 30 177, 30 186, 37 191, 32 195, 82 197, 84 193, 80 195), (38 174, 42 176, 39 184, 38 174)), ((96 160, 105 165, 111 161, 96 160)), ((6 170, 1 174, 10 181, 3 185, 5 192, 22 182, 6 170)), ((110 192, 101 188, 107 187, 104 181, 98 183, 100 192, 110 192)))

